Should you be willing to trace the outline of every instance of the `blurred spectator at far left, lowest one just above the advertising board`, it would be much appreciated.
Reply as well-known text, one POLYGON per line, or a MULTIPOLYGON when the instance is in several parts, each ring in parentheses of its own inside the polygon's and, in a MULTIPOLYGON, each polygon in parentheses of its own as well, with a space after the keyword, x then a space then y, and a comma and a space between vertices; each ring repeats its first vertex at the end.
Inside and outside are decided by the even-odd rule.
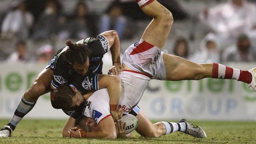
POLYGON ((27 62, 28 51, 26 43, 24 41, 18 41, 16 43, 16 51, 9 55, 7 62, 27 62))

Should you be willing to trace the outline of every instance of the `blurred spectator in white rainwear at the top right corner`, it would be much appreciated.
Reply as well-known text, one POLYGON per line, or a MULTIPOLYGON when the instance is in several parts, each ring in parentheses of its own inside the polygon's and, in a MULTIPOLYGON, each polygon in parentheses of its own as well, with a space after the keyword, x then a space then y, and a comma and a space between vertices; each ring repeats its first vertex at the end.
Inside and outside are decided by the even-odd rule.
POLYGON ((199 18, 217 34, 221 44, 230 43, 240 33, 255 30, 256 6, 247 0, 227 0, 226 3, 204 9, 199 18))

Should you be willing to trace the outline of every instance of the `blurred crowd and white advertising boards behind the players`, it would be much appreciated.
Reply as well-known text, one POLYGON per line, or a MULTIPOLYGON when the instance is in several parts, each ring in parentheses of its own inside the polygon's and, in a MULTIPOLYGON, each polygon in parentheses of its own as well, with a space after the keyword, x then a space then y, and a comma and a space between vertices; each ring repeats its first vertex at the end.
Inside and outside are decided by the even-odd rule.
MULTIPOLYGON (((67 39, 117 30, 121 53, 139 41, 150 17, 135 0, 0 0, 0 119, 13 115, 22 94, 67 39)), ((158 0, 174 16, 164 51, 197 63, 239 69, 256 65, 256 2, 158 0)), ((103 72, 111 67, 104 56, 103 72)), ((233 80, 150 81, 139 103, 152 120, 256 120, 256 94, 233 80)), ((64 119, 49 94, 25 118, 64 119)), ((2 127, 2 126, 0 126, 2 127)))

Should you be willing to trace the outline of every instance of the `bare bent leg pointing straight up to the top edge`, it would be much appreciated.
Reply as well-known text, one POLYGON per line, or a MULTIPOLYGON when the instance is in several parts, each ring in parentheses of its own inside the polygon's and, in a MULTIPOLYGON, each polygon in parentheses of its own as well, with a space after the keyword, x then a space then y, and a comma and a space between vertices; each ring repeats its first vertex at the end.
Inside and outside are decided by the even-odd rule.
POLYGON ((172 13, 156 0, 136 0, 142 11, 153 17, 142 35, 142 39, 163 48, 173 25, 172 13))

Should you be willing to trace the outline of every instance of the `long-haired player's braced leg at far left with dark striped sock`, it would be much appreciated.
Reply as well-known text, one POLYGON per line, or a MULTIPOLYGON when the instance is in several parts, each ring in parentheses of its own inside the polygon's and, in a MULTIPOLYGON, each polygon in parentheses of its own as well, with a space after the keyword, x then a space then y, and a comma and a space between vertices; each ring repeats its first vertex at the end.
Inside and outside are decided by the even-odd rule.
POLYGON ((19 124, 20 120, 33 109, 39 96, 50 91, 52 76, 53 70, 50 69, 44 69, 39 74, 32 86, 22 96, 10 122, 1 129, 0 137, 11 137, 11 133, 14 131, 17 124, 19 124))

